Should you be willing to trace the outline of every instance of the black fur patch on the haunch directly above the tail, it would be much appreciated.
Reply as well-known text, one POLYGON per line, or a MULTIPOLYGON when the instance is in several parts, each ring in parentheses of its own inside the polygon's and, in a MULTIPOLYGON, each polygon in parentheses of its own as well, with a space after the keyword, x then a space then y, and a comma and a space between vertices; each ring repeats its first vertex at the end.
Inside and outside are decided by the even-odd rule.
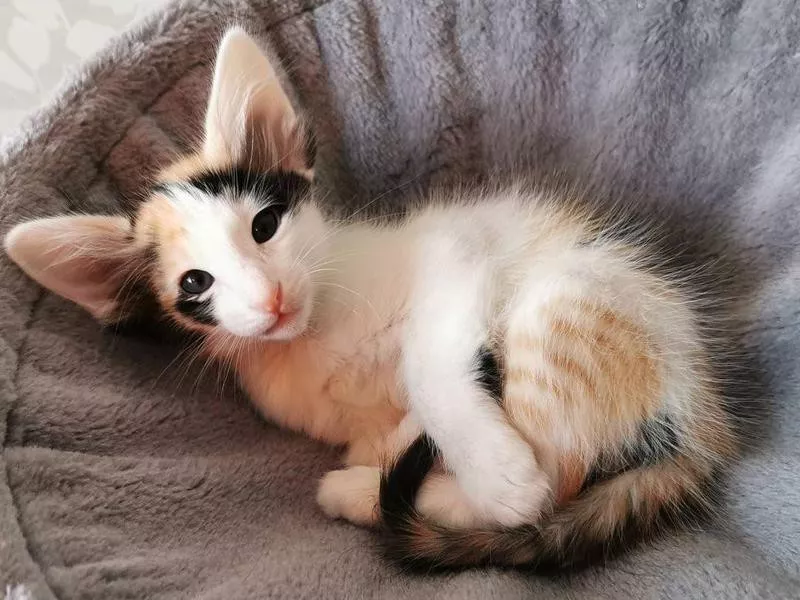
POLYGON ((583 482, 581 492, 625 471, 647 467, 675 456, 678 445, 678 431, 670 417, 664 415, 648 419, 641 424, 636 437, 625 444, 618 455, 601 456, 597 460, 583 482))

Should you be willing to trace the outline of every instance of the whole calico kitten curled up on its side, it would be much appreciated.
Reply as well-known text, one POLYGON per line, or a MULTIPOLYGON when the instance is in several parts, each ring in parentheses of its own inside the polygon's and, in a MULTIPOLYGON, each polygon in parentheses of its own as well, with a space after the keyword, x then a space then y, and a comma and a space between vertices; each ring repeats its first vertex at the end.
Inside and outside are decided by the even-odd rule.
POLYGON ((319 505, 408 566, 567 567, 708 508, 736 436, 691 291, 521 184, 325 216, 282 79, 229 30, 199 150, 135 215, 25 222, 8 255, 103 323, 155 296, 268 419, 347 447, 319 505))

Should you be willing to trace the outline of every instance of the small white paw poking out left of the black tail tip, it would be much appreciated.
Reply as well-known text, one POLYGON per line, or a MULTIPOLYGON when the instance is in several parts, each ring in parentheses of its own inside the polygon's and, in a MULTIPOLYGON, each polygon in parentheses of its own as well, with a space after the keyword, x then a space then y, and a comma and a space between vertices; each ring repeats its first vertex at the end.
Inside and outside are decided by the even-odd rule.
POLYGON ((317 490, 317 504, 332 519, 356 525, 378 522, 378 491, 381 472, 377 467, 357 466, 326 473, 317 490))

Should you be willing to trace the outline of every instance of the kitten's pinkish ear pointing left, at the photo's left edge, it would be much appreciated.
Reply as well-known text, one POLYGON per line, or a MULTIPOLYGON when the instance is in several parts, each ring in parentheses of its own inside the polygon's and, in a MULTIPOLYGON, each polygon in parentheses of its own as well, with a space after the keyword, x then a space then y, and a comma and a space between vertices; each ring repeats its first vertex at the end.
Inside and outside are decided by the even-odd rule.
POLYGON ((119 291, 142 266, 125 217, 68 216, 17 225, 4 242, 8 256, 48 290, 108 322, 119 291))

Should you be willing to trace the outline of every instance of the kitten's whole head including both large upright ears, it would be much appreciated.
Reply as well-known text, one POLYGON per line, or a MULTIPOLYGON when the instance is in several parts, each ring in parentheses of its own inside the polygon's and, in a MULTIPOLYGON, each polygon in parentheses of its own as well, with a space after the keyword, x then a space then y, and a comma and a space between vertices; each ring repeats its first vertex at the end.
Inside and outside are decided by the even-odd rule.
POLYGON ((222 39, 196 154, 167 168, 132 218, 62 216, 14 227, 8 255, 98 320, 126 318, 144 282, 202 333, 288 340, 308 326, 326 223, 310 144, 286 90, 240 29, 222 39))

